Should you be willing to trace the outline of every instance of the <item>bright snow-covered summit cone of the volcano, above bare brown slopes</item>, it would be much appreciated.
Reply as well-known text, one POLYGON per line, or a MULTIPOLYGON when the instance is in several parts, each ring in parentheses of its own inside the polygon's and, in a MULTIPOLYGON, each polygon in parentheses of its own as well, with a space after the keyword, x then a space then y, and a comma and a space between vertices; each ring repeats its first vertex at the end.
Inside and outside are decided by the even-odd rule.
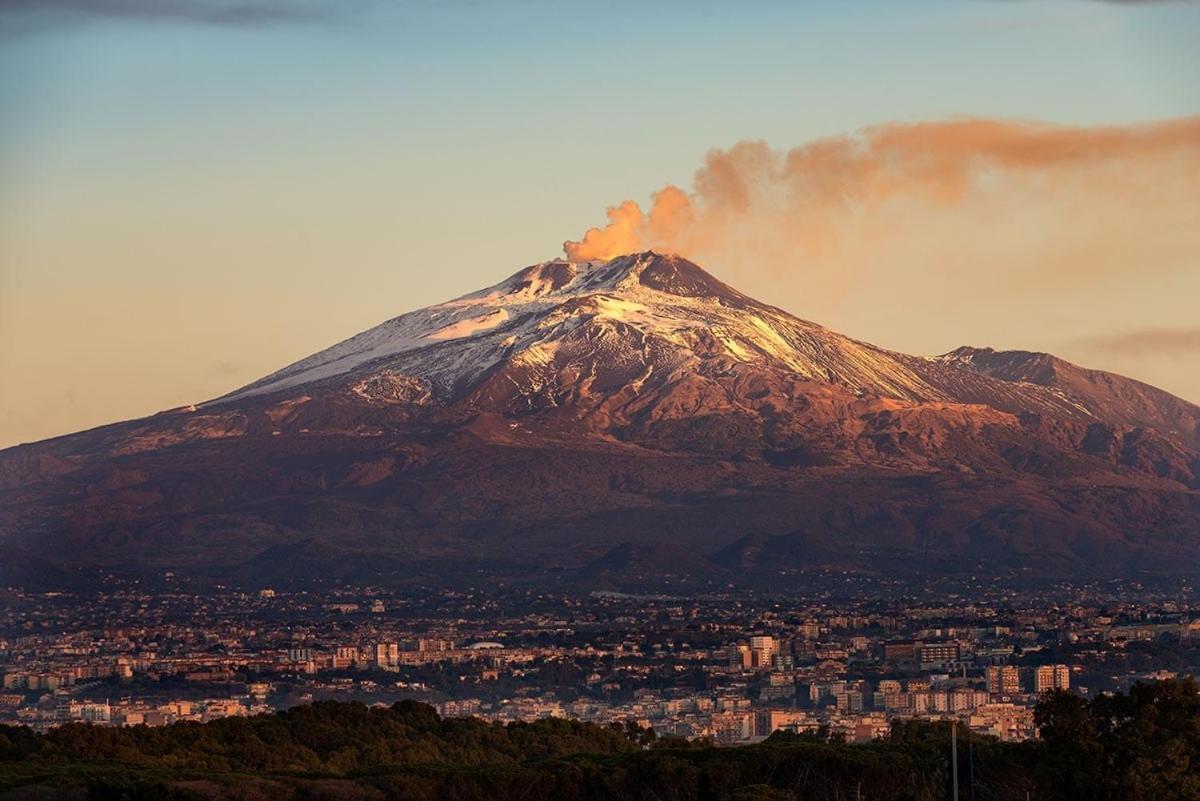
POLYGON ((383 368, 454 395, 506 360, 545 363, 553 343, 583 325, 620 326, 692 359, 722 356, 872 393, 944 399, 896 354, 758 303, 678 257, 641 253, 533 265, 494 287, 388 320, 223 401, 383 368))

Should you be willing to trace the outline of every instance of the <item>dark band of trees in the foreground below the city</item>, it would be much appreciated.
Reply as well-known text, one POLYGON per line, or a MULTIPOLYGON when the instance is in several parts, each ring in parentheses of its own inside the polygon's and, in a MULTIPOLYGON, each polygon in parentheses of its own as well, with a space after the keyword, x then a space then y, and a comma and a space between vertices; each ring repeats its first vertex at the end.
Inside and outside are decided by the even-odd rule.
MULTIPOLYGON (((958 731, 961 801, 1200 801, 1192 679, 1045 695, 1039 739, 958 731)), ((323 701, 168 727, 0 727, 0 801, 934 801, 950 797, 944 722, 852 745, 826 731, 748 746, 634 723, 488 723, 433 707, 323 701)))

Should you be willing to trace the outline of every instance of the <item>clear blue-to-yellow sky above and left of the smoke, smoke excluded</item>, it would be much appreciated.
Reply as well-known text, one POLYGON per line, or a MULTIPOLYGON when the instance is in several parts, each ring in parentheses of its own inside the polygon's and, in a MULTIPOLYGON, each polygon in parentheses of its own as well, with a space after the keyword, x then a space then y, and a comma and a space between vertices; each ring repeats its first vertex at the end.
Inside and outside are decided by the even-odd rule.
POLYGON ((712 147, 1200 112, 1193 2, 0 8, 0 369, 19 379, 0 445, 215 395, 493 283, 606 205, 686 186, 712 147), (56 383, 92 363, 118 379, 56 383))

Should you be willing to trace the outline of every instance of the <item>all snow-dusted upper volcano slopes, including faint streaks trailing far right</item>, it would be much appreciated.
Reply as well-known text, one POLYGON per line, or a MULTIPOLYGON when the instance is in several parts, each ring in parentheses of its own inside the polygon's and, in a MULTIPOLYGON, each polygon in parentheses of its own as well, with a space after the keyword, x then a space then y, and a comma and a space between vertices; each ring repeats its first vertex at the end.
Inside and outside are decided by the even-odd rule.
POLYGON ((535 264, 493 287, 388 320, 220 401, 380 371, 424 381, 444 401, 503 368, 522 395, 541 391, 564 372, 589 385, 604 372, 608 385, 641 389, 652 378, 678 380, 702 365, 751 365, 907 402, 1090 415, 1055 387, 1000 380, 841 336, 755 301, 686 259, 653 252, 606 263, 535 264))

